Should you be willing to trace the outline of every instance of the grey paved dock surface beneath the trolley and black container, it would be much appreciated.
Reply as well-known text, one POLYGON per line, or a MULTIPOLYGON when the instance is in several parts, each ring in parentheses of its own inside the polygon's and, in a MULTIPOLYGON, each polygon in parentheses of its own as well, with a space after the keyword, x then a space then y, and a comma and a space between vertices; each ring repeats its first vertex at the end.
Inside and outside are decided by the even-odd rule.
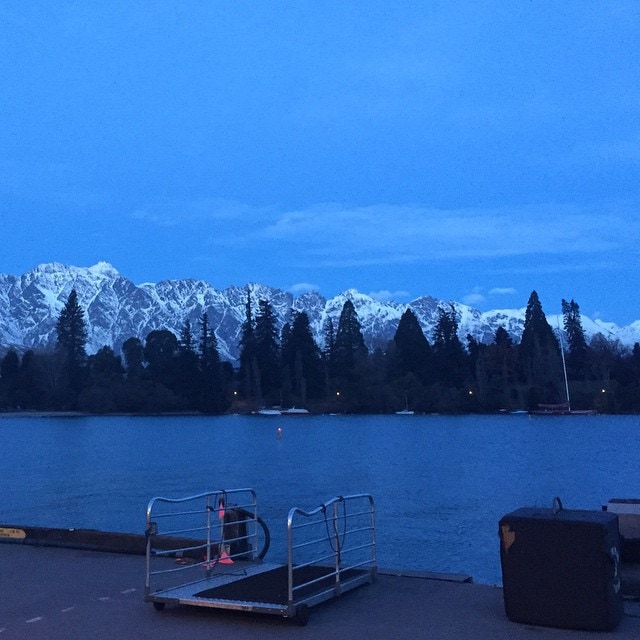
POLYGON ((0 640, 640 638, 638 602, 625 603, 612 632, 533 627, 506 618, 500 588, 421 577, 382 574, 374 584, 312 608, 306 627, 235 611, 156 611, 143 593, 143 556, 0 545, 0 640))

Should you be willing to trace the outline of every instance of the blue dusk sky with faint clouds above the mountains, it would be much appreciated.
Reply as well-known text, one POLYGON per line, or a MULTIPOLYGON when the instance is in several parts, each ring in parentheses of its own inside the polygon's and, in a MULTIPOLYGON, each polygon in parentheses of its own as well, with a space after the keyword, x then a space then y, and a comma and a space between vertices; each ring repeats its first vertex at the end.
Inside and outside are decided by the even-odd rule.
POLYGON ((0 3, 0 273, 640 320, 635 0, 0 3))

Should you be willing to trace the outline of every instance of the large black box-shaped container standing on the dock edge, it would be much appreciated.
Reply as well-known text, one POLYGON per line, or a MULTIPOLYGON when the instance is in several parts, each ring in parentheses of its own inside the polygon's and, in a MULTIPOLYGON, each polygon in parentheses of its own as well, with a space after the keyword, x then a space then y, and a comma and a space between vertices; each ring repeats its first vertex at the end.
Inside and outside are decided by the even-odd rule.
POLYGON ((622 617, 618 517, 523 508, 500 520, 505 612, 525 624, 610 631, 622 617))

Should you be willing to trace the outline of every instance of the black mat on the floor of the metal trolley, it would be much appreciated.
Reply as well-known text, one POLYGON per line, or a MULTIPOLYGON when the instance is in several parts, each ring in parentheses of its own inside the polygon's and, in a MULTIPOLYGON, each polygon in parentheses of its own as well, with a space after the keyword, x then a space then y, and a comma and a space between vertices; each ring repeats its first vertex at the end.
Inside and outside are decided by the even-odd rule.
MULTIPOLYGON (((319 593, 330 588, 335 582, 335 576, 330 575, 333 568, 330 567, 302 567, 293 572, 294 586, 304 584, 316 578, 324 579, 314 582, 294 592, 294 600, 304 598, 314 593, 319 593)), ((365 572, 357 569, 349 569, 342 572, 342 580, 363 575, 365 572)), ((265 571, 254 576, 242 578, 229 584, 224 584, 212 589, 200 591, 195 595, 199 598, 212 600, 241 600, 251 602, 265 602, 270 604, 286 604, 288 591, 287 567, 282 566, 271 571, 265 571)))

